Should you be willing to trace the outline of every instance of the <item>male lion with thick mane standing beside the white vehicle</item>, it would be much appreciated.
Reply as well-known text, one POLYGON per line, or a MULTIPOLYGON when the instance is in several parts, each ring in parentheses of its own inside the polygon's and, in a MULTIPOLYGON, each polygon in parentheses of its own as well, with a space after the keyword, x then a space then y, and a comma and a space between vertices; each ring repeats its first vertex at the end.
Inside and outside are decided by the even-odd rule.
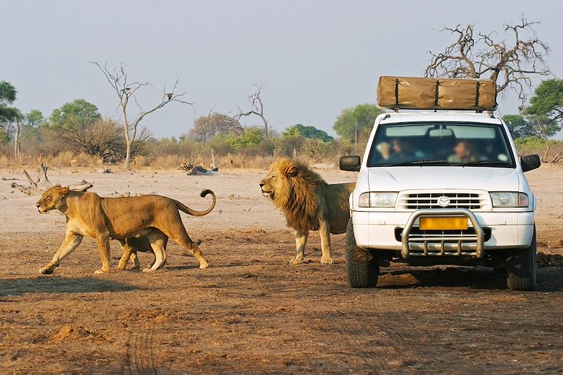
POLYGON ((330 234, 346 231, 350 219, 348 197, 355 183, 327 184, 307 166, 291 159, 272 163, 270 172, 260 181, 262 196, 272 199, 295 231, 297 255, 290 263, 303 262, 310 230, 321 235, 321 263, 331 265, 330 234))

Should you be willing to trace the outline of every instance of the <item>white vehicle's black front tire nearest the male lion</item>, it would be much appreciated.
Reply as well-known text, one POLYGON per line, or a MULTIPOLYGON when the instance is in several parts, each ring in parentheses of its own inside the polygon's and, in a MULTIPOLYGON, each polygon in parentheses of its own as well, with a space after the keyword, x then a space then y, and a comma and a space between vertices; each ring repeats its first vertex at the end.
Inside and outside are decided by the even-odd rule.
POLYGON ((379 263, 369 251, 356 246, 352 218, 346 228, 346 274, 352 288, 372 288, 379 277, 379 263))

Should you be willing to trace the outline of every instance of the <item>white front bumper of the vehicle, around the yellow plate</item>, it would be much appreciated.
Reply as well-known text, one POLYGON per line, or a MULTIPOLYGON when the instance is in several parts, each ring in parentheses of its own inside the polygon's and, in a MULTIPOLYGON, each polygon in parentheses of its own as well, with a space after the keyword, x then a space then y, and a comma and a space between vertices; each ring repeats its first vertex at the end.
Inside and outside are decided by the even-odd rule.
POLYGON ((352 220, 356 243, 360 248, 370 250, 398 250, 403 258, 412 255, 473 255, 480 258, 488 250, 524 249, 531 244, 533 212, 449 213, 448 215, 469 217, 472 233, 458 236, 438 234, 431 236, 431 239, 428 238, 429 236, 410 235, 412 229, 418 228, 420 216, 442 216, 446 214, 445 210, 448 209, 430 210, 432 211, 430 213, 422 212, 423 210, 415 212, 353 211, 352 220), (402 231, 400 238, 396 236, 398 229, 402 231), (483 229, 490 231, 490 236, 486 236, 487 238, 482 236, 483 229), (409 235, 405 236, 405 234, 409 235), (413 239, 415 241, 412 241, 413 239), (407 247, 405 248, 405 246, 407 247))

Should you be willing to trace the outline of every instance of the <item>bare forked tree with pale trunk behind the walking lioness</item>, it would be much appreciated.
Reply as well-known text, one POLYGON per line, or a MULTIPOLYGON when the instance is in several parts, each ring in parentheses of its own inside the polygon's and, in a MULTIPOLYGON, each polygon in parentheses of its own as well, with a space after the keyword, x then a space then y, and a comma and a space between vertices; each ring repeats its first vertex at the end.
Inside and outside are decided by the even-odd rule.
POLYGON ((182 96, 186 95, 185 92, 182 94, 175 94, 174 91, 178 85, 178 77, 176 78, 176 82, 174 87, 172 87, 171 91, 167 91, 166 87, 163 90, 163 98, 156 106, 153 106, 149 110, 143 110, 137 101, 137 96, 135 93, 137 90, 141 89, 142 87, 148 86, 148 82, 129 82, 129 75, 125 72, 125 65, 120 64, 117 68, 113 70, 108 69, 108 65, 100 65, 96 61, 90 61, 90 63, 96 65, 99 70, 103 73, 108 80, 110 86, 115 90, 115 94, 118 95, 120 100, 118 108, 121 109, 122 117, 123 117, 123 132, 125 134, 125 144, 127 146, 127 150, 125 153, 125 165, 123 165, 125 170, 129 169, 129 163, 131 163, 131 148, 135 138, 137 136, 137 128, 139 127, 139 123, 144 119, 146 115, 149 115, 160 108, 163 108, 168 103, 178 102, 187 104, 189 106, 194 106, 194 103, 189 103, 187 101, 183 101, 181 98, 182 96), (134 103, 139 108, 139 113, 135 115, 133 120, 129 120, 127 106, 129 105, 129 101, 133 99, 134 103))

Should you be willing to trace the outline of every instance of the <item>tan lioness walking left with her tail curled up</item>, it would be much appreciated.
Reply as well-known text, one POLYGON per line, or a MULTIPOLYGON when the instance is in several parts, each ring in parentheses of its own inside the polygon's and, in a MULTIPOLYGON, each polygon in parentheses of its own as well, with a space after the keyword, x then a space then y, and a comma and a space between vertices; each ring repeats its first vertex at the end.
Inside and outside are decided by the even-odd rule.
POLYGON ((59 210, 66 216, 66 234, 61 247, 49 264, 41 269, 42 274, 53 273, 55 267, 82 241, 83 236, 96 239, 102 267, 96 273, 110 271, 110 239, 128 240, 146 236, 155 253, 155 262, 145 271, 154 271, 166 262, 166 241, 170 237, 199 260, 201 269, 208 262, 201 250, 189 238, 179 211, 189 215, 207 215, 215 207, 217 199, 210 190, 201 196, 213 196, 213 203, 207 210, 194 211, 191 208, 165 196, 147 195, 124 198, 101 198, 89 191, 72 191, 68 186, 56 184, 43 193, 37 201, 37 210, 46 213, 59 210))

